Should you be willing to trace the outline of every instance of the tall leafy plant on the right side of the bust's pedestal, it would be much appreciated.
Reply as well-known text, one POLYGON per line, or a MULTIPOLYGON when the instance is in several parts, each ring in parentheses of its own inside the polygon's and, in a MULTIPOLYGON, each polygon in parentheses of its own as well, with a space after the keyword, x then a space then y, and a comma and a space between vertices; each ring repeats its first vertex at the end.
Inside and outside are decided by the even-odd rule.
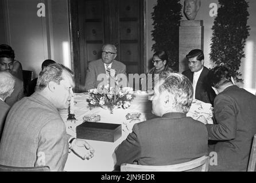
POLYGON ((219 0, 219 4, 218 17, 212 27, 210 58, 215 65, 228 67, 236 81, 242 81, 238 70, 249 36, 249 5, 245 0, 219 0))

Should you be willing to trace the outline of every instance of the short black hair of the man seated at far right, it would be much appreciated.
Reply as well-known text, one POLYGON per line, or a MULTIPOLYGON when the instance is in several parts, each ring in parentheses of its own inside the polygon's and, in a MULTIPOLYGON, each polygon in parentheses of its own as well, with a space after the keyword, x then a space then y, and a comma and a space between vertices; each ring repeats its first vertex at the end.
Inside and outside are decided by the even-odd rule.
POLYGON ((216 66, 211 69, 208 73, 208 82, 210 82, 211 86, 215 88, 219 88, 220 86, 232 82, 230 71, 225 66, 216 66))

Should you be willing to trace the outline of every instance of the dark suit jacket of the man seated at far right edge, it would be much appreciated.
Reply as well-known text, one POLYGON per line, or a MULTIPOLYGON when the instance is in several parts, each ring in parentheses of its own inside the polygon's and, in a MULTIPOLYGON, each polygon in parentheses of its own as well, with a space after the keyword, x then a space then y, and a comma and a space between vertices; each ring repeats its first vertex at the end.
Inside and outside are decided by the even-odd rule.
POLYGON ((256 134, 256 97, 232 85, 214 101, 215 125, 207 125, 210 146, 218 154, 218 166, 210 170, 246 171, 253 136, 256 134))

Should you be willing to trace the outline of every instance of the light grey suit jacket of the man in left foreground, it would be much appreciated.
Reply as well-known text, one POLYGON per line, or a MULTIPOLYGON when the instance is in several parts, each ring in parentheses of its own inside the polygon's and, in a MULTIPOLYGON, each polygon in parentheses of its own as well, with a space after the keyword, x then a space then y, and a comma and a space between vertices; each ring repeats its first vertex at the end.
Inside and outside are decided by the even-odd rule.
POLYGON ((51 171, 62 171, 67 157, 65 124, 51 101, 36 92, 10 109, 0 143, 0 164, 46 165, 51 171))

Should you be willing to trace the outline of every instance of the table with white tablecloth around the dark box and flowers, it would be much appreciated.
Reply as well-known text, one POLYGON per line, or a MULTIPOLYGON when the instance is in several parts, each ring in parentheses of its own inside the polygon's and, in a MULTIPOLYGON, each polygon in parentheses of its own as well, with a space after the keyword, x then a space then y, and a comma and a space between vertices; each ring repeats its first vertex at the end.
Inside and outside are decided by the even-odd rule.
MULTIPOLYGON (((128 109, 116 109, 113 114, 110 114, 109 110, 105 110, 102 108, 95 108, 90 110, 88 108, 88 102, 86 98, 88 94, 84 93, 76 93, 75 94, 75 117, 77 119, 75 126, 78 126, 83 123, 83 117, 90 114, 99 114, 101 117, 100 122, 103 123, 111 123, 111 124, 121 124, 122 125, 122 137, 120 137, 115 142, 104 142, 104 141, 92 141, 86 140, 92 148, 95 149, 94 157, 91 160, 82 160, 73 152, 69 153, 68 160, 65 164, 65 171, 76 171, 76 172, 110 172, 114 170, 114 158, 113 153, 115 148, 131 132, 131 129, 127 129, 126 123, 130 120, 126 120, 127 113, 141 113, 141 121, 149 120, 154 118, 152 114, 152 101, 148 100, 148 94, 138 94, 135 95, 134 100, 131 102, 131 106, 128 109)), ((193 104, 192 104, 193 106, 193 104)), ((197 106, 196 106, 197 108, 197 106)), ((192 108, 191 108, 192 109, 192 108)), ((60 112, 61 117, 65 121, 67 127, 67 133, 76 137, 76 130, 73 126, 73 129, 70 128, 70 122, 67 122, 68 111, 63 110, 60 112)), ((190 113, 190 116, 196 118, 197 116, 193 116, 194 112, 190 113)))

